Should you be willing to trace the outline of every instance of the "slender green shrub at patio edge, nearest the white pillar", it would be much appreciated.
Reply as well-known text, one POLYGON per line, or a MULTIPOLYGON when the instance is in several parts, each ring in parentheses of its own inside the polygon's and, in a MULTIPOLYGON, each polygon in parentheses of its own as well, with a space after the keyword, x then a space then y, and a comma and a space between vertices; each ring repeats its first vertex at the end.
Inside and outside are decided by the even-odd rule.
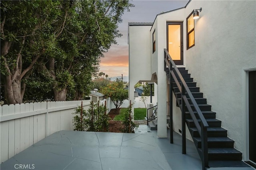
POLYGON ((132 104, 130 104, 130 106, 127 107, 125 113, 124 113, 124 117, 122 120, 122 124, 124 125, 122 132, 123 133, 133 133, 134 129, 136 129, 138 127, 138 125, 136 125, 133 121, 133 116, 132 116, 132 104))

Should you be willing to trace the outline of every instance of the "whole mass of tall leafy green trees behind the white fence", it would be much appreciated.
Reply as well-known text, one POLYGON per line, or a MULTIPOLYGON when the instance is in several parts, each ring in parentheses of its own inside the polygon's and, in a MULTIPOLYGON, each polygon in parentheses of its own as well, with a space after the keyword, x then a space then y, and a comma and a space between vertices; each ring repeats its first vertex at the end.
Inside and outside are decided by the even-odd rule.
POLYGON ((1 1, 5 104, 22 103, 26 85, 55 101, 82 98, 100 57, 121 36, 118 23, 130 6, 127 0, 1 1))

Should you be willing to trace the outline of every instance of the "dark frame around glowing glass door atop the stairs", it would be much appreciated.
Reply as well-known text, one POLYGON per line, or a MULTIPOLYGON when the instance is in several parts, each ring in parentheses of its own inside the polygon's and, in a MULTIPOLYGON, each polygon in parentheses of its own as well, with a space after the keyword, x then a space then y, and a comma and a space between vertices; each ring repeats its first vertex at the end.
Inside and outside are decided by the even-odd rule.
POLYGON ((176 65, 184 65, 184 54, 183 54, 183 21, 167 21, 166 22, 166 49, 168 49, 168 25, 180 25, 180 60, 174 60, 176 65))

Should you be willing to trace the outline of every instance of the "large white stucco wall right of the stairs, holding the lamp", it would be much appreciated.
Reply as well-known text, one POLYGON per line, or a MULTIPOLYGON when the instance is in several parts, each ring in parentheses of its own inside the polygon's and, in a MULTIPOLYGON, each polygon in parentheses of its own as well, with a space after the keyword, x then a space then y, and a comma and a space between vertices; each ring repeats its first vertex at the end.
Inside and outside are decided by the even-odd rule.
POLYGON ((186 68, 234 147, 244 153, 244 70, 256 68, 256 1, 192 1, 186 16, 200 7, 186 68))

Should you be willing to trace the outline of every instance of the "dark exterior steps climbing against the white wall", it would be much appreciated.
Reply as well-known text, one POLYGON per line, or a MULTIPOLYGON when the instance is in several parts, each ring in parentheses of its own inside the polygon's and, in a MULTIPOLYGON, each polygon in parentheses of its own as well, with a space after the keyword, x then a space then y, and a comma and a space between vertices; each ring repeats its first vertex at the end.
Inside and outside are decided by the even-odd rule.
MULTIPOLYGON (((227 137, 227 130, 221 127, 221 121, 216 119, 216 112, 212 111, 211 105, 207 104, 206 98, 203 97, 203 93, 200 92, 200 88, 196 87, 196 82, 193 82, 193 78, 188 74, 188 70, 185 68, 178 68, 182 74, 186 84, 188 85, 192 95, 194 96, 196 103, 198 104, 200 110, 203 113, 209 127, 207 128, 207 141, 208 141, 208 166, 213 167, 250 167, 242 161, 242 153, 234 149, 234 141, 227 137)), ((169 70, 166 70, 166 74, 169 77, 169 70)), ((177 76, 177 73, 174 71, 177 76)), ((178 78, 178 76, 177 76, 178 78)), ((178 79, 180 82, 180 80, 178 79)), ((174 82, 174 80, 172 80, 174 82)), ((175 94, 177 100, 177 106, 181 106, 181 94, 178 90, 176 83, 172 83, 172 91, 175 94)), ((187 96, 187 94, 186 94, 187 96)), ((188 98, 188 96, 187 96, 188 98)), ((188 102, 191 104, 190 98, 188 102)), ((195 108, 190 105, 198 118, 195 108)), ((200 156, 202 156, 201 149, 201 138, 199 136, 198 130, 195 127, 194 121, 188 112, 186 107, 185 112, 186 125, 190 131, 193 138, 194 144, 198 150, 200 156)), ((200 120, 198 119, 199 123, 200 120)), ((202 158, 202 157, 201 157, 202 158)))

